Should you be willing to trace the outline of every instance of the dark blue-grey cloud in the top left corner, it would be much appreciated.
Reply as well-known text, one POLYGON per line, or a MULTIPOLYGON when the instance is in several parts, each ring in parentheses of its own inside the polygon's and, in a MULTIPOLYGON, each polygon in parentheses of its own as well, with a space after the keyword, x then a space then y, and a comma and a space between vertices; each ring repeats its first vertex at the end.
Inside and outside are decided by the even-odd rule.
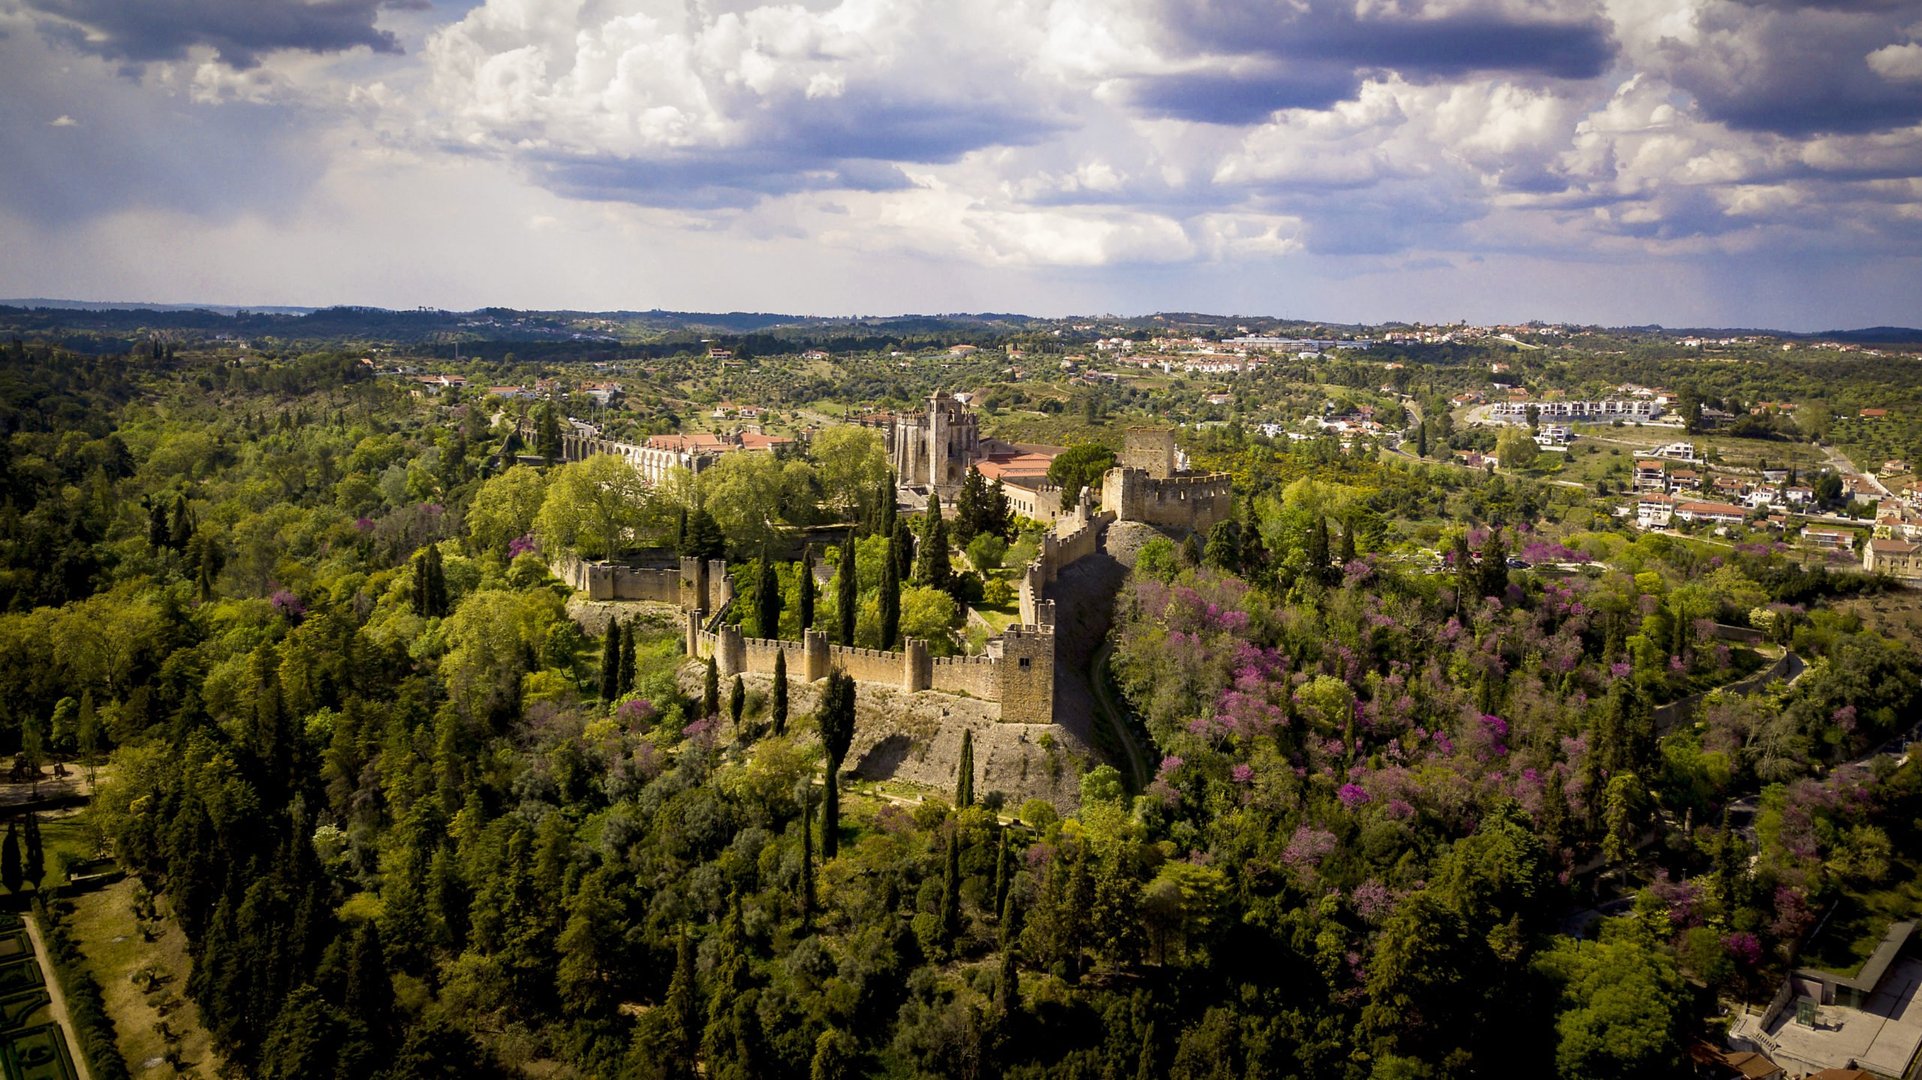
POLYGON ((259 63, 263 52, 344 52, 367 46, 400 52, 394 35, 375 27, 382 8, 417 8, 425 0, 25 0, 42 15, 40 31, 108 60, 148 63, 179 60, 194 46, 219 50, 234 67, 259 63))

